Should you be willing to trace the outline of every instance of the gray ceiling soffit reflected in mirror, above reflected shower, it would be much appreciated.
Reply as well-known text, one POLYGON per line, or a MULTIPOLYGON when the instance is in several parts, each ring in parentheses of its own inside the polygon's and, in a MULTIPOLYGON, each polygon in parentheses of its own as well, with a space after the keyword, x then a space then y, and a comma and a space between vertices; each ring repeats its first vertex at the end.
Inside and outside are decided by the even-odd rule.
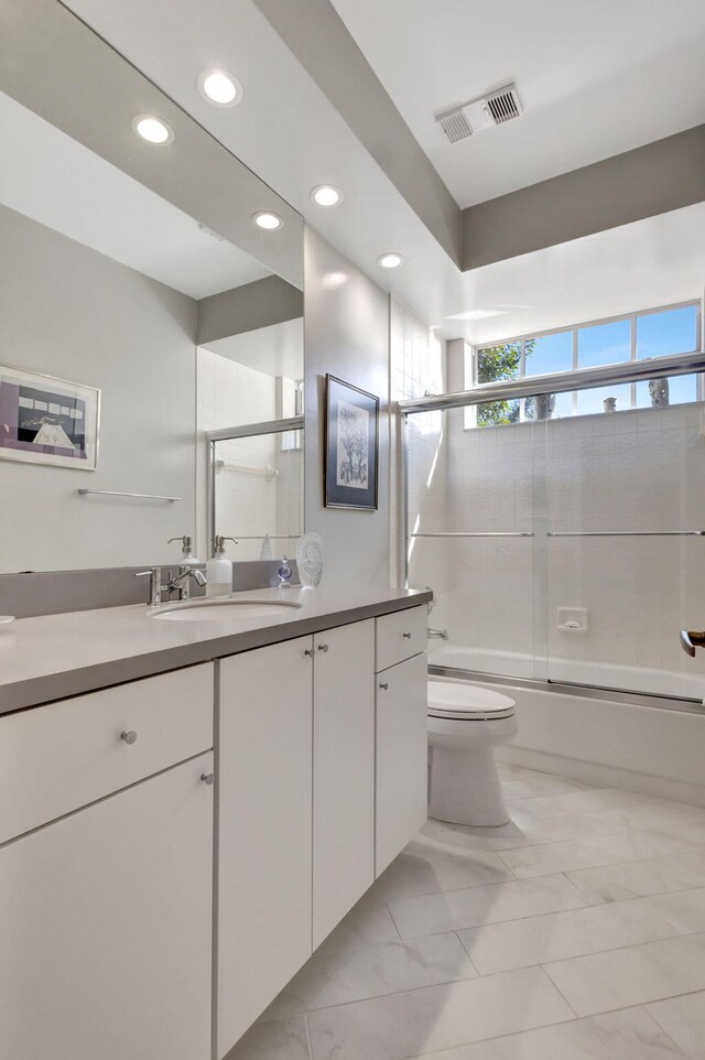
POLYGON ((196 343, 204 346, 241 332, 297 320, 303 313, 302 291, 280 277, 265 277, 200 299, 196 343))

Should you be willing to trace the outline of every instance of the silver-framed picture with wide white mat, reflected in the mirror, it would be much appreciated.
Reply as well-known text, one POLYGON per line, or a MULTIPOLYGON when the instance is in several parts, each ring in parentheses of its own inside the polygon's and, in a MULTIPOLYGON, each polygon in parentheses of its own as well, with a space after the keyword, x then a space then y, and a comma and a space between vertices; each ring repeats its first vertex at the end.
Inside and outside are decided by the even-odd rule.
POLYGON ((95 472, 100 391, 0 365, 0 459, 95 472))

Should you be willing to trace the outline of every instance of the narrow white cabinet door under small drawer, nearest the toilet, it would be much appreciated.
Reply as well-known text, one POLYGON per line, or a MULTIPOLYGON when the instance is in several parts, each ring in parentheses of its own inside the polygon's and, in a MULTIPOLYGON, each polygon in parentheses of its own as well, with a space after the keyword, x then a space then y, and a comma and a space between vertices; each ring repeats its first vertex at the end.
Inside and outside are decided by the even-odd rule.
POLYGON ((377 674, 377 876, 426 820, 427 680, 425 652, 377 674))

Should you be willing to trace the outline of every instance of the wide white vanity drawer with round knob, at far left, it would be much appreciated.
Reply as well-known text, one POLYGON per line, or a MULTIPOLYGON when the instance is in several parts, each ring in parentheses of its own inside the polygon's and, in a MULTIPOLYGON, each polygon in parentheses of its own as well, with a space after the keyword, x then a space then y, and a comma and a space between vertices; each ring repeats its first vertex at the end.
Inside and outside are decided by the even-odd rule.
POLYGON ((0 842, 210 747, 210 662, 2 717, 0 842))

